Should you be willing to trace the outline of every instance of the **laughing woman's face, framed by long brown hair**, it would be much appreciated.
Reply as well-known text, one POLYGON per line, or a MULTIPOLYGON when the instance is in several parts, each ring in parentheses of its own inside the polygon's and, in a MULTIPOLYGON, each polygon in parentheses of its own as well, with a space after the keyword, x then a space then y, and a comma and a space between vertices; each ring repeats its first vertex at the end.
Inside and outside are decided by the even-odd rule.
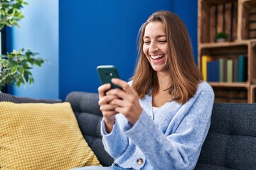
POLYGON ((164 24, 150 22, 145 28, 143 52, 156 72, 166 71, 168 42, 164 24))

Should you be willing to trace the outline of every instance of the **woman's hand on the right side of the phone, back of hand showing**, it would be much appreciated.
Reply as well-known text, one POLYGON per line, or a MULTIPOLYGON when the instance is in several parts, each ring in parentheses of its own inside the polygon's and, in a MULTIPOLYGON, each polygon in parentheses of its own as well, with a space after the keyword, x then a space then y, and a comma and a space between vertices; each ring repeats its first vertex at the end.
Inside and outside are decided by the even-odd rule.
POLYGON ((111 89, 107 95, 115 95, 116 98, 110 104, 116 106, 114 111, 122 113, 130 123, 135 124, 142 114, 142 107, 139 105, 139 96, 126 81, 121 79, 112 79, 112 83, 120 86, 121 89, 111 89))

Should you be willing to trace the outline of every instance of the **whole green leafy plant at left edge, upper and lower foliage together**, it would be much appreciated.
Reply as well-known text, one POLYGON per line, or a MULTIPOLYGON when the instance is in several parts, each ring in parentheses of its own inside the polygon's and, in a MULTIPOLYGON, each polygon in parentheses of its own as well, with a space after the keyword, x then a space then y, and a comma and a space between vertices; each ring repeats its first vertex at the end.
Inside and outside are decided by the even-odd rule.
MULTIPOLYGON (((0 4, 0 31, 4 26, 18 26, 18 21, 24 18, 23 5, 28 3, 25 0, 1 0, 0 4)), ((6 85, 20 86, 21 84, 32 84, 34 82, 31 69, 33 65, 41 67, 45 62, 31 50, 13 50, 6 55, 0 55, 0 91, 6 85)))

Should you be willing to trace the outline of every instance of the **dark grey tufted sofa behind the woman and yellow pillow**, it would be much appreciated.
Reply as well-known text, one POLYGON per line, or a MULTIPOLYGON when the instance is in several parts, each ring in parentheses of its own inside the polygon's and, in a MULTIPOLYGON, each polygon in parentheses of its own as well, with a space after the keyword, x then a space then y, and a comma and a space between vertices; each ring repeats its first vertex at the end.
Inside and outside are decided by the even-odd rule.
MULTIPOLYGON (((0 94, 0 101, 15 103, 46 102, 0 94)), ((98 96, 71 92, 65 98, 71 103, 82 135, 103 166, 113 162, 102 145, 98 96)), ((203 144, 196 169, 256 169, 256 104, 214 103, 210 131, 203 144)))

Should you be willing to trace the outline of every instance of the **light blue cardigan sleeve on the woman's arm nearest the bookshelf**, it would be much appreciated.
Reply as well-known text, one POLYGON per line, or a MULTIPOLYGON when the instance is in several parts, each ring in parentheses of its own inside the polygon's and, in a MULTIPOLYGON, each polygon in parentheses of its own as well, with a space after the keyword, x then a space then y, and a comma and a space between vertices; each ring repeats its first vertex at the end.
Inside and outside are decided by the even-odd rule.
POLYGON ((213 89, 206 88, 184 103, 176 113, 177 119, 171 120, 176 121, 171 134, 161 132, 145 111, 124 134, 142 150, 152 166, 193 169, 210 127, 213 99, 213 89))

